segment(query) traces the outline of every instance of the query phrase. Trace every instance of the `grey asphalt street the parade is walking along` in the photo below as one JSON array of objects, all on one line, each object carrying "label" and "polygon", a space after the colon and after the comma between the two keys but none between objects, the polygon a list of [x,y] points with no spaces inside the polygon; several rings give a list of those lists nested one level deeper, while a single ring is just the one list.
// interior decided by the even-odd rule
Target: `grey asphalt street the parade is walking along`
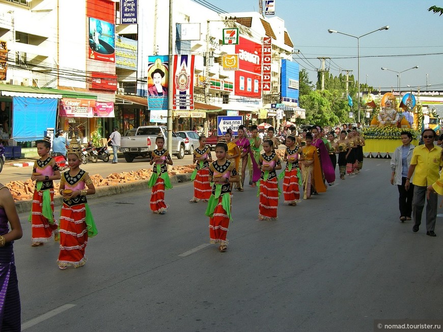
[{"label": "grey asphalt street the parade is walking along", "polygon": [[225,253],[209,245],[207,204],[188,203],[192,183],[167,191],[165,215],[151,213],[148,188],[92,198],[98,235],[77,269],[58,268],[58,243],[32,248],[21,214],[22,330],[373,331],[374,319],[439,319],[442,220],[437,237],[400,223],[390,175],[389,159],[365,159],[326,193],[297,206],[281,197],[278,221],[258,220],[246,180]]}]

